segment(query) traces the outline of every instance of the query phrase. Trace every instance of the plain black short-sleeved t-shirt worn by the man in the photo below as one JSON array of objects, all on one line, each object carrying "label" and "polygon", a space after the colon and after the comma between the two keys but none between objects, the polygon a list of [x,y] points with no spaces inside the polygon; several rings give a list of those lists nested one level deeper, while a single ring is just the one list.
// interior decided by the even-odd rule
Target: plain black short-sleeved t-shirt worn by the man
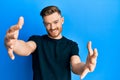
[{"label": "plain black short-sleeved t-shirt worn by the man", "polygon": [[79,52],[76,42],[47,35],[32,36],[30,40],[37,44],[32,53],[33,80],[71,80],[70,57]]}]

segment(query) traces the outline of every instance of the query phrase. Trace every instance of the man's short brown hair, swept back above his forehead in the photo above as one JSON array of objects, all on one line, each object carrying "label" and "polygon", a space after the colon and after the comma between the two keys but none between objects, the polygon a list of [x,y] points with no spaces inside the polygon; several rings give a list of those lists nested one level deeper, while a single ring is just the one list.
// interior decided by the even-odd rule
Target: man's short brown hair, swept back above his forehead
[{"label": "man's short brown hair, swept back above his forehead", "polygon": [[43,18],[44,16],[51,15],[51,14],[53,14],[55,12],[57,12],[57,13],[59,13],[61,15],[61,11],[57,6],[47,6],[47,7],[42,9],[42,11],[40,12],[40,15]]}]

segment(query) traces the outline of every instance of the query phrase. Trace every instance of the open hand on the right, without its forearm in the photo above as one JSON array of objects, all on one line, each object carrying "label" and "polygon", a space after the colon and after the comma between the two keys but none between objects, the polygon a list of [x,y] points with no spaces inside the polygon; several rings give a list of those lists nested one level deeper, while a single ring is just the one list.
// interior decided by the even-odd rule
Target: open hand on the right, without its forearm
[{"label": "open hand on the right, without its forearm", "polygon": [[85,69],[81,75],[81,79],[83,79],[88,72],[94,71],[97,63],[98,52],[96,48],[94,50],[92,49],[91,41],[88,42],[87,48],[88,48],[89,54],[87,56]]}]

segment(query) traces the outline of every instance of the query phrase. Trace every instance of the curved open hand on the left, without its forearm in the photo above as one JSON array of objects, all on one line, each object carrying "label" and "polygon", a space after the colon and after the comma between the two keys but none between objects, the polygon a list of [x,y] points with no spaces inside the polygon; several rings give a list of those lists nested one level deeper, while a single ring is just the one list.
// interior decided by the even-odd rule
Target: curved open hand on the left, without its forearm
[{"label": "curved open hand on the left, without its forearm", "polygon": [[7,31],[6,36],[5,36],[5,46],[8,50],[8,54],[12,60],[14,60],[14,55],[13,55],[13,48],[15,45],[15,42],[17,41],[18,35],[19,35],[19,30],[22,28],[24,24],[24,18],[20,17],[18,20],[18,23]]}]

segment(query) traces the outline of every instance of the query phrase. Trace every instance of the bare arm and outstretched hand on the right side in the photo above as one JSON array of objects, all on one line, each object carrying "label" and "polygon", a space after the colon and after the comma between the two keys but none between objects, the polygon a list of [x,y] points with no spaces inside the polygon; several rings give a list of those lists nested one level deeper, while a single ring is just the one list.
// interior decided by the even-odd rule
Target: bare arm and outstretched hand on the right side
[{"label": "bare arm and outstretched hand on the right side", "polygon": [[88,43],[88,52],[86,63],[81,62],[77,55],[71,57],[72,71],[79,74],[81,78],[84,78],[88,72],[94,71],[96,67],[98,52],[97,49],[92,50],[91,42]]}]

